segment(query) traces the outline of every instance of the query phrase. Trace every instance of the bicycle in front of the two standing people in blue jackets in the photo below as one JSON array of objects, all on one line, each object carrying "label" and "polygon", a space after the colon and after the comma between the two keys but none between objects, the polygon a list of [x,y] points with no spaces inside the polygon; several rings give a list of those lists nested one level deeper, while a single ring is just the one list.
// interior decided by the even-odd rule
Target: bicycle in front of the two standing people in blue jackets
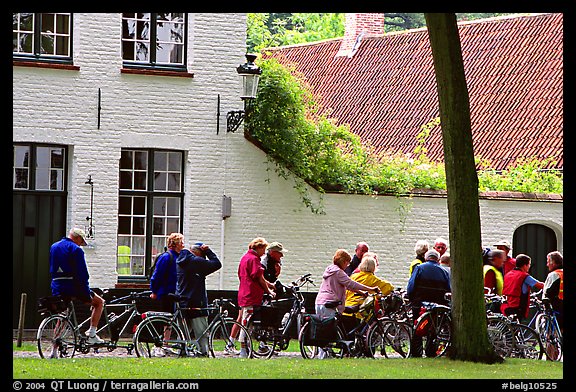
[{"label": "bicycle in front of the two standing people in blue jackets", "polygon": [[[218,298],[203,308],[180,307],[182,299],[176,294],[168,294],[175,302],[174,313],[144,312],[142,321],[134,333],[134,347],[138,357],[186,357],[205,356],[216,358],[221,356],[238,357],[237,342],[231,336],[232,328],[238,328],[240,334],[246,336],[248,356],[252,352],[252,341],[246,328],[231,317],[224,309],[225,305],[235,307],[232,300]],[[188,311],[207,311],[211,317],[208,327],[195,339],[186,322]],[[208,353],[203,353],[200,341],[208,339]]]}]

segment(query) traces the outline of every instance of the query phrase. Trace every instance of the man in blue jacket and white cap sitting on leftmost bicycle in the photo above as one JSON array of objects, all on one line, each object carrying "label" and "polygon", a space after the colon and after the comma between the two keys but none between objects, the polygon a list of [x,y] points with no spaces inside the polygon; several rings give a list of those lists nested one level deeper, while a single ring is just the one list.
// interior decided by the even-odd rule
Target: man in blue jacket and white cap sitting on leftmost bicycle
[{"label": "man in blue jacket and white cap sitting on leftmost bicycle", "polygon": [[86,331],[89,344],[104,343],[96,335],[96,328],[104,308],[104,299],[90,290],[88,267],[84,258],[86,246],[84,230],[74,227],[68,237],[62,238],[50,247],[50,276],[52,295],[60,295],[65,299],[77,299],[92,306],[90,328]]}]

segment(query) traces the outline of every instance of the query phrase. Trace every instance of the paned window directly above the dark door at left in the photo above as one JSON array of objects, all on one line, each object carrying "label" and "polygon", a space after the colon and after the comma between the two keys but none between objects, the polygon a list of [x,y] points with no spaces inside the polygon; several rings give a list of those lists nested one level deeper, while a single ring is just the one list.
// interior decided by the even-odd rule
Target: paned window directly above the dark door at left
[{"label": "paned window directly above the dark door at left", "polygon": [[62,146],[14,144],[12,189],[63,191],[66,149]]}]

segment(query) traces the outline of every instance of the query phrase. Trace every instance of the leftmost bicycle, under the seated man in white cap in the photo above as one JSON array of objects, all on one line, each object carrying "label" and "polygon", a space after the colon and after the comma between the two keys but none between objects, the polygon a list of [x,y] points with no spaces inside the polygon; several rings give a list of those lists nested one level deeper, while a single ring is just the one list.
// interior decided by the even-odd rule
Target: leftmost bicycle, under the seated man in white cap
[{"label": "leftmost bicycle, under the seated man in white cap", "polygon": [[[90,324],[90,317],[78,324],[74,300],[63,296],[47,296],[38,300],[38,312],[48,314],[38,327],[36,341],[41,358],[72,358],[79,351],[88,354],[90,349],[98,352],[103,348],[114,351],[124,348],[132,354],[132,343],[120,343],[120,337],[134,323],[138,322],[140,313],[136,308],[138,298],[147,297],[150,291],[132,292],[124,297],[104,303],[102,317],[104,325],[96,333],[105,332],[109,337],[104,343],[89,344],[88,338],[80,332]],[[126,301],[129,301],[128,303]],[[109,308],[124,307],[119,315],[108,313]]]}]

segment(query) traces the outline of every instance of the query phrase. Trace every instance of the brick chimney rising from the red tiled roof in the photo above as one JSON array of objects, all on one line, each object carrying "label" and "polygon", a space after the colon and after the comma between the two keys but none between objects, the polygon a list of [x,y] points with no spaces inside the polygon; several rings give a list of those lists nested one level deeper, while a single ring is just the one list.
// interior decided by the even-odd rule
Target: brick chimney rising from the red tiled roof
[{"label": "brick chimney rising from the red tiled roof", "polygon": [[384,14],[346,14],[344,37],[336,57],[352,57],[363,38],[382,35]]}]

